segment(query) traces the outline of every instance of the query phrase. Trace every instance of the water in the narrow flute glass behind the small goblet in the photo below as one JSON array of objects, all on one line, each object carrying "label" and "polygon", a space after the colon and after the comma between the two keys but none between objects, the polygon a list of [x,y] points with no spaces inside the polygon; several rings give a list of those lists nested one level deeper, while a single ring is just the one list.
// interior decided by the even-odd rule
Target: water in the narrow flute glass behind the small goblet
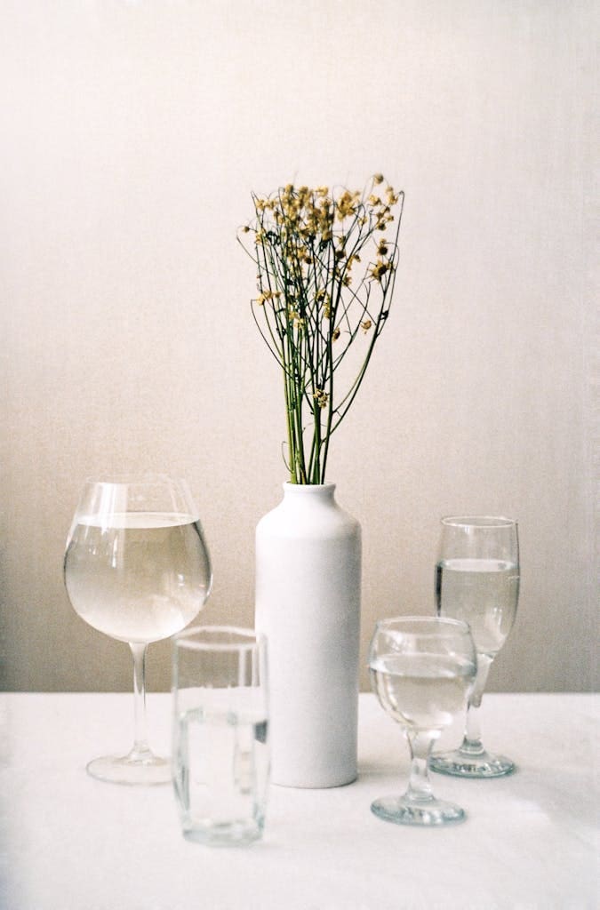
[{"label": "water in the narrow flute glass behind the small goblet", "polygon": [[439,615],[468,622],[477,652],[493,656],[513,628],[519,569],[501,560],[442,560],[435,595]]}]

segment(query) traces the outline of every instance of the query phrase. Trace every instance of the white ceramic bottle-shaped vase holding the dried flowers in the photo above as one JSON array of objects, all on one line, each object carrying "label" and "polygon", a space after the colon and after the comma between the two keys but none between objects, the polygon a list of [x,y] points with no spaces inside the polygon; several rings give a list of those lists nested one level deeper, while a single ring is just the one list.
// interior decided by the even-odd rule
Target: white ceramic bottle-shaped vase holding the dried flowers
[{"label": "white ceramic bottle-shaped vase holding the dried flowers", "polygon": [[271,780],[357,775],[361,526],[335,486],[285,483],[256,530],[256,627],[269,648]]}]

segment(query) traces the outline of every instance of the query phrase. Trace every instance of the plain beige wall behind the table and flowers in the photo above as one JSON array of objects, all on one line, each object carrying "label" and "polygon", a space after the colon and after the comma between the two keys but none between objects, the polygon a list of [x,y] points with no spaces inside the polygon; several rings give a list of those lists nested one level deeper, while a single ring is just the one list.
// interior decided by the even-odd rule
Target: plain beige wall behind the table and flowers
[{"label": "plain beige wall behind the table and flowers", "polygon": [[377,617],[432,612],[440,516],[503,512],[523,585],[490,688],[597,686],[599,8],[2,0],[5,688],[131,688],[62,581],[98,471],[186,477],[203,618],[253,622],[285,430],[236,230],[251,190],[375,171],[406,192],[402,259],[329,469],[363,529],[363,663]]}]

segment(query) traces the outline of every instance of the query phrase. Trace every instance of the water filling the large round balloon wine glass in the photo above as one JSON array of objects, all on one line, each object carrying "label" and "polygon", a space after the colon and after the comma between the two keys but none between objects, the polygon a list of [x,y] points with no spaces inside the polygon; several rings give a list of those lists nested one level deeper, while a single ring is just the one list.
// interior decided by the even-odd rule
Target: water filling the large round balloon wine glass
[{"label": "water filling the large round balloon wine glass", "polygon": [[157,642],[194,619],[210,571],[191,515],[124,512],[79,519],[65,557],[76,612],[122,642]]}]

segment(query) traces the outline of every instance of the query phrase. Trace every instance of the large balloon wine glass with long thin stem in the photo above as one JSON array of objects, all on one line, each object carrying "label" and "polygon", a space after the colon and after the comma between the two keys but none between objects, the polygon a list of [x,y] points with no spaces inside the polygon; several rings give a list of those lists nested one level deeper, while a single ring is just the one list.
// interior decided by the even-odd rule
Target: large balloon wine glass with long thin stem
[{"label": "large balloon wine glass with long thin stem", "polygon": [[75,611],[99,632],[127,642],[134,662],[133,747],[124,756],[95,759],[87,771],[115,784],[168,783],[168,759],[147,743],[147,645],[188,625],[212,582],[186,483],[162,474],[87,480],[66,541],[64,571]]}]

